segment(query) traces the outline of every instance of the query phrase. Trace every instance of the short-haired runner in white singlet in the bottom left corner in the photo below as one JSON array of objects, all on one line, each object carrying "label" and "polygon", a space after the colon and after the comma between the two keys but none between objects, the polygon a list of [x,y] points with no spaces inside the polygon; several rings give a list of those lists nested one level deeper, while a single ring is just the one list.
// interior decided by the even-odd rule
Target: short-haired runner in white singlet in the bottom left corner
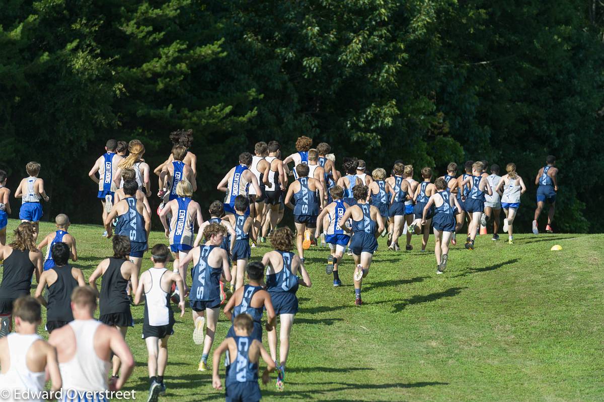
[{"label": "short-haired runner in white singlet in the bottom left corner", "polygon": [[[19,297],[14,302],[13,313],[17,332],[0,339],[0,400],[42,401],[46,369],[53,383],[51,391],[59,391],[61,387],[57,354],[36,334],[41,319],[40,304],[36,299]],[[28,398],[25,392],[30,392]]]}]

